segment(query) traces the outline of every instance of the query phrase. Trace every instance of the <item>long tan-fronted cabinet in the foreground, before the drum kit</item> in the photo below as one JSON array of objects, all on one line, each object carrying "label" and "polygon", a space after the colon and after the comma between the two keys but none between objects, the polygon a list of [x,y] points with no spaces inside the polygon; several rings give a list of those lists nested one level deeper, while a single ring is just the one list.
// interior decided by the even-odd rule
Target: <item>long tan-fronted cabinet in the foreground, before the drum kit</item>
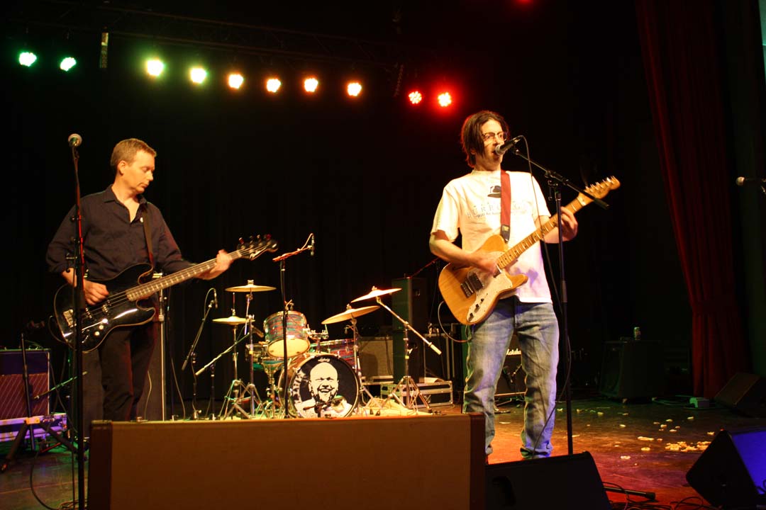
[{"label": "long tan-fronted cabinet in the foreground, before the drum kit", "polygon": [[97,421],[90,444],[94,510],[485,508],[475,413]]}]

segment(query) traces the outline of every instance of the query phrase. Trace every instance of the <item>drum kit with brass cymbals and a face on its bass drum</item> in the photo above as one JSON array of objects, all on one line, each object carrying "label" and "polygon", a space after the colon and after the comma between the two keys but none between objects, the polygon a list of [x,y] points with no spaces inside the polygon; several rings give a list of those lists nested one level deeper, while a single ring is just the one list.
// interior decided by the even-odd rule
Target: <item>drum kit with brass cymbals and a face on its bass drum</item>
[{"label": "drum kit with brass cymbals and a face on its bass drum", "polygon": [[[274,290],[275,287],[257,285],[253,281],[226,289],[232,293],[231,316],[214,319],[213,322],[232,328],[233,343],[195,373],[199,375],[213,366],[221,356],[232,353],[234,380],[224,397],[220,413],[217,416],[214,414],[213,419],[233,418],[235,415],[243,419],[254,419],[370,414],[370,406],[375,399],[362,385],[364,378],[358,356],[359,335],[356,320],[385,307],[380,298],[401,289],[372,287],[370,294],[358,297],[352,300],[352,303],[375,298],[378,301],[377,305],[353,308],[348,304],[341,313],[322,320],[322,325],[325,326],[323,332],[311,330],[306,316],[293,310],[291,303],[286,306],[286,310],[268,316],[264,320],[264,330],[261,331],[254,326],[250,302],[254,293]],[[237,293],[247,294],[244,317],[238,317],[236,314],[234,296]],[[328,339],[326,325],[345,321],[351,323],[353,338]],[[241,333],[237,335],[241,326]],[[254,336],[258,336],[259,339],[255,339]],[[250,378],[247,382],[239,378],[237,372],[237,345],[244,341],[247,341],[245,347],[250,368]],[[267,376],[265,395],[261,395],[263,387],[261,391],[256,387],[256,369],[263,370]],[[417,389],[417,385],[414,386]],[[409,391],[409,387],[406,389]],[[389,398],[396,397],[389,395]],[[403,404],[401,399],[397,400]],[[427,407],[427,402],[424,403]],[[376,414],[380,414],[380,408]]]}]

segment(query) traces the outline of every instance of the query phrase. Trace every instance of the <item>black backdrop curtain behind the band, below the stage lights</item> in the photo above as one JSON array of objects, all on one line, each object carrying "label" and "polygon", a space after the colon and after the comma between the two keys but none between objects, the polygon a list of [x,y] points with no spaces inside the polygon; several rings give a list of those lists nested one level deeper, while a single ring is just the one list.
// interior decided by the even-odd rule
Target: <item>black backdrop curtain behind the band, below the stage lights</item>
[{"label": "black backdrop curtain behind the band, below the stage lights", "polygon": [[[414,274],[434,259],[427,238],[441,189],[467,171],[460,124],[486,108],[502,112],[514,134],[527,137],[535,161],[576,184],[611,175],[622,183],[605,199],[609,210],[591,205],[578,213],[580,235],[565,244],[575,387],[594,385],[604,342],[629,335],[633,326],[660,340],[676,358],[673,363],[685,365],[689,305],[656,163],[633,6],[539,2],[537,11],[506,7],[489,16],[486,2],[476,3],[461,6],[462,15],[430,22],[420,11],[405,17],[423,24],[406,26],[410,38],[403,41],[433,47],[437,55],[421,63],[421,81],[444,79],[459,87],[449,112],[408,108],[401,96],[394,97],[395,76],[382,70],[371,74],[377,81],[358,104],[296,93],[270,100],[254,84],[232,94],[215,86],[192,89],[172,77],[146,80],[136,64],[139,44],[119,37],[110,43],[108,69],[98,70],[97,34],[70,37],[73,44],[93,47],[90,61],[83,60],[74,74],[22,69],[13,62],[18,36],[7,37],[3,87],[10,179],[3,231],[9,278],[0,344],[18,346],[25,324],[46,320],[62,283],[47,274],[44,253],[74,202],[66,145],[71,132],[83,137],[83,194],[111,183],[108,161],[116,141],[142,138],[158,151],[146,197],[161,208],[191,261],[234,249],[239,237],[266,233],[280,243],[277,253],[293,251],[314,232],[316,255],[286,261],[286,297],[319,330],[322,320],[373,285],[389,287],[393,278]],[[310,29],[322,32],[329,25]],[[485,34],[477,32],[482,29]],[[191,51],[169,47],[164,54],[172,60]],[[521,165],[506,160],[506,167]],[[539,171],[533,173],[542,180]],[[563,203],[575,197],[570,190],[562,195]],[[549,253],[550,281],[558,283],[555,245]],[[233,294],[225,287],[247,280],[280,286],[272,256],[236,261],[217,280],[172,290],[169,339],[178,368],[197,332],[208,288],[215,287],[221,300],[213,317],[227,316]],[[433,323],[440,267],[430,265],[419,274],[427,278]],[[660,295],[663,306],[657,307]],[[244,294],[234,297],[243,315]],[[259,293],[251,312],[262,321],[281,307],[279,291]],[[378,310],[359,323],[375,334],[390,326],[391,317]],[[343,323],[330,325],[329,333],[348,336]],[[37,330],[28,338],[53,348],[56,370],[62,370],[64,349],[50,335]],[[208,323],[199,362],[230,344],[228,327]],[[218,399],[231,380],[231,368],[219,367]],[[188,397],[188,373],[181,384]]]}]

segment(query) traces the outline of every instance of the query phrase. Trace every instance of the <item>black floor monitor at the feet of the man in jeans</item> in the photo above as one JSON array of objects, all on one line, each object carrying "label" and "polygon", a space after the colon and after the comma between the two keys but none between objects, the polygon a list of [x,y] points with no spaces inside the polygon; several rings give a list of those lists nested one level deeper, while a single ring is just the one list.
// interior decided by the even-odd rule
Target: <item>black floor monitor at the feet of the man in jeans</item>
[{"label": "black floor monitor at the feet of the man in jeans", "polygon": [[611,510],[590,453],[486,466],[487,510]]}]

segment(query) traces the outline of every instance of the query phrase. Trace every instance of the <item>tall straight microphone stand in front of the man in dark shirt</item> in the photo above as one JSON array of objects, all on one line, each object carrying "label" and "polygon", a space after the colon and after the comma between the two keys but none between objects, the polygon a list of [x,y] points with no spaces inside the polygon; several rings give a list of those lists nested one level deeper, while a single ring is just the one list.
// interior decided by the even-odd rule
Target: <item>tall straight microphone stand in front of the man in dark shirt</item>
[{"label": "tall straight microphone stand in front of the man in dark shirt", "polygon": [[77,255],[74,258],[74,377],[75,379],[75,430],[77,433],[77,508],[86,508],[85,504],[85,445],[83,438],[84,424],[84,405],[83,405],[83,309],[85,307],[85,252],[83,249],[83,216],[80,208],[80,154],[77,153],[77,146],[71,145],[72,161],[74,163],[74,221],[77,223],[77,236],[74,238],[75,251]]}]

